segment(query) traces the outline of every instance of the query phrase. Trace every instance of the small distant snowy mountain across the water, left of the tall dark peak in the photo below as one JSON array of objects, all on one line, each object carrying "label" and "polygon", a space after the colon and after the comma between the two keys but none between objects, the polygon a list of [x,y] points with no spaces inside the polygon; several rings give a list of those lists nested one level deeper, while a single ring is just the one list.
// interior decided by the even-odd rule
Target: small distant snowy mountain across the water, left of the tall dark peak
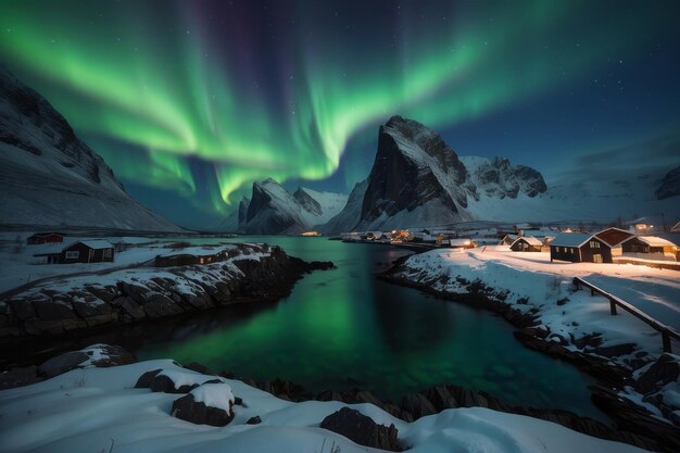
[{"label": "small distant snowy mountain across the water, left of the tall dark peak", "polygon": [[327,223],[347,204],[341,193],[299,187],[290,193],[272,178],[253,183],[252,197],[238,210],[238,231],[250,235],[297,235]]}]

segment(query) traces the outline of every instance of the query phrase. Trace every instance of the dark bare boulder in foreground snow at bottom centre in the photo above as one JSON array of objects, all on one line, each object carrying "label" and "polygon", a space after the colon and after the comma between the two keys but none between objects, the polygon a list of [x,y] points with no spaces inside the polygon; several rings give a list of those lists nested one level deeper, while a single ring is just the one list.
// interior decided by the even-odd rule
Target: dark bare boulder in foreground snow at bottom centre
[{"label": "dark bare boulder in foreground snow at bottom centre", "polygon": [[370,417],[349,407],[342,407],[324,418],[320,427],[344,436],[360,445],[391,452],[402,451],[394,425],[378,425]]}]

